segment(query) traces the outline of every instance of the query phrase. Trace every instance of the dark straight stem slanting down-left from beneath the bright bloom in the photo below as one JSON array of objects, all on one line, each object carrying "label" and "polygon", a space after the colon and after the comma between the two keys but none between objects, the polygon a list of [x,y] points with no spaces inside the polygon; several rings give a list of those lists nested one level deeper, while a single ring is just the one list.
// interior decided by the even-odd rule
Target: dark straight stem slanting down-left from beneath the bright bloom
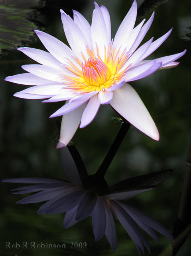
[{"label": "dark straight stem slanting down-left from beneath the bright bloom", "polygon": [[108,167],[110,166],[110,163],[112,162],[118,148],[120,147],[123,139],[126,136],[126,133],[128,132],[130,128],[130,123],[128,122],[124,122],[113,142],[113,144],[111,145],[108,153],[106,154],[106,157],[104,158],[102,164],[100,165],[99,169],[96,172],[96,176],[99,176],[100,178],[104,178],[106,171],[108,169]]}]

